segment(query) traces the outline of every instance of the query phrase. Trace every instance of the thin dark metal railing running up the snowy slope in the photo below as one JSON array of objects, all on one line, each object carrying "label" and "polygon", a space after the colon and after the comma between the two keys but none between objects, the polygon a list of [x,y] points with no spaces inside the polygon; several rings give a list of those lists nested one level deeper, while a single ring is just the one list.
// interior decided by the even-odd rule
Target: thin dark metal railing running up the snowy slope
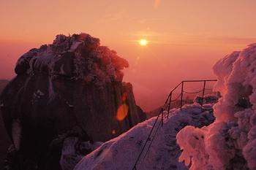
[{"label": "thin dark metal railing running up the snowy slope", "polygon": [[[154,141],[154,139],[155,139],[155,137],[157,135],[157,131],[158,131],[160,125],[162,125],[162,126],[164,125],[164,110],[167,111],[167,119],[168,119],[169,118],[170,109],[178,108],[178,107],[180,109],[182,109],[182,106],[184,105],[184,103],[192,104],[193,101],[185,101],[184,100],[184,93],[189,93],[189,94],[202,93],[202,99],[201,99],[201,103],[200,104],[201,104],[201,106],[203,106],[203,98],[205,97],[206,90],[212,90],[211,88],[206,88],[207,82],[216,82],[216,81],[217,80],[185,80],[185,81],[180,82],[175,88],[173,88],[173,90],[170,91],[169,95],[167,96],[167,99],[165,100],[165,104],[159,110],[159,114],[157,115],[157,118],[154,121],[154,125],[152,126],[151,131],[148,134],[146,142],[143,144],[143,148],[140,151],[140,154],[138,155],[138,158],[137,158],[137,160],[135,162],[135,165],[132,167],[132,170],[138,170],[139,169],[140,164],[143,163],[144,159],[146,158],[148,150],[150,149],[151,144],[153,143],[153,141]],[[199,90],[199,91],[195,91],[195,92],[188,92],[188,91],[184,90],[184,83],[186,83],[186,82],[203,82],[203,89]],[[180,86],[181,86],[180,93],[178,94],[178,96],[176,96],[175,99],[173,99],[172,98],[173,97],[173,93]],[[180,98],[180,101],[178,101],[178,98]],[[173,104],[174,102],[176,102],[176,103]],[[173,106],[171,104],[173,104]],[[157,121],[159,120],[160,115],[161,115],[161,121],[157,125]],[[155,131],[154,131],[154,129],[155,129]],[[145,150],[146,150],[146,152],[145,152]],[[144,156],[143,156],[143,153],[144,153]],[[140,158],[142,158],[142,156],[143,156],[143,160],[140,161]]]}]

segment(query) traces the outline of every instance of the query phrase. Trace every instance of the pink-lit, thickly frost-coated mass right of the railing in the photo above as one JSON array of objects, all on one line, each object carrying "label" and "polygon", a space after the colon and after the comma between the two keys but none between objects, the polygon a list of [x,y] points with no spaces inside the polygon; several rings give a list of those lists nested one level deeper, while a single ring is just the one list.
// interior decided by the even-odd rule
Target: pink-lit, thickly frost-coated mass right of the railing
[{"label": "pink-lit, thickly frost-coated mass right of the railing", "polygon": [[192,158],[191,169],[255,170],[256,44],[218,61],[214,73],[215,90],[222,95],[214,106],[216,120],[206,128],[188,126],[178,133],[184,150],[180,161],[189,164]]}]

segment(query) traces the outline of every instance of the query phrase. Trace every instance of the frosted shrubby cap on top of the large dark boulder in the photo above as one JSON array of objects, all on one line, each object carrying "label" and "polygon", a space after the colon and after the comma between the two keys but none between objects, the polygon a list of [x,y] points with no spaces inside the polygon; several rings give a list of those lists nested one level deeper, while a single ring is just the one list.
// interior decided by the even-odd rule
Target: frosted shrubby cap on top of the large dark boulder
[{"label": "frosted shrubby cap on top of the large dark boulder", "polygon": [[94,82],[102,87],[112,80],[121,81],[121,69],[129,64],[115,51],[100,46],[89,34],[58,35],[51,45],[42,45],[24,54],[16,64],[17,74],[45,72],[52,77],[66,76]]}]

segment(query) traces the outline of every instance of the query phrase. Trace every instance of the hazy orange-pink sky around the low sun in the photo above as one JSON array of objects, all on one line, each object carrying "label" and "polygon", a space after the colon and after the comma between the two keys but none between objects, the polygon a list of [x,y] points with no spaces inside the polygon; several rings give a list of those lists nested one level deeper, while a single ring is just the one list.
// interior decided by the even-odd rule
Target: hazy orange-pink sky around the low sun
[{"label": "hazy orange-pink sky around the low sun", "polygon": [[[138,104],[157,107],[185,79],[214,78],[213,64],[256,42],[256,1],[1,1],[0,79],[56,34],[86,32],[129,61]],[[136,40],[148,39],[146,47]]]}]

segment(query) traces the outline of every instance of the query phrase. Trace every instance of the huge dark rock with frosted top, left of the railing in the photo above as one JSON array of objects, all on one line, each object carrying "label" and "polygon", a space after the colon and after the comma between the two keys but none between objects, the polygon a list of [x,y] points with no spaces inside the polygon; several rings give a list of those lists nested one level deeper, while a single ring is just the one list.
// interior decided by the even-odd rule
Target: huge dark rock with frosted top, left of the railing
[{"label": "huge dark rock with frosted top, left of the railing", "polygon": [[105,142],[145,120],[132,85],[122,82],[127,66],[89,34],[58,35],[52,45],[22,55],[1,94],[11,169],[61,169],[70,136]]}]

